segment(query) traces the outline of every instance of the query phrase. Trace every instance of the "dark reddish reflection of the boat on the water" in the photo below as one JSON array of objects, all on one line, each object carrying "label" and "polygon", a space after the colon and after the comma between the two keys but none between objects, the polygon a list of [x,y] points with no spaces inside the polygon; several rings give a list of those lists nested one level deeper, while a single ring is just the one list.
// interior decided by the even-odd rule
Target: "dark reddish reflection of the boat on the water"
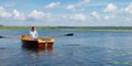
[{"label": "dark reddish reflection of the boat on the water", "polygon": [[34,48],[34,47],[28,47],[24,44],[22,45],[22,50],[31,53],[37,53],[38,55],[43,55],[44,53],[48,53],[50,55],[53,55],[54,53],[53,47]]}]

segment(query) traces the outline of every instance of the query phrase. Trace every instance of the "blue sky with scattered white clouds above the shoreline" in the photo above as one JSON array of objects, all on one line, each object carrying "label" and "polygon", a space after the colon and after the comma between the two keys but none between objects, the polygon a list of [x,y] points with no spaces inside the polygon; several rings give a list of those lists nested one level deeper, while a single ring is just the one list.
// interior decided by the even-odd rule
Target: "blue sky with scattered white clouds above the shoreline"
[{"label": "blue sky with scattered white clouds above the shoreline", "polygon": [[132,26],[132,0],[0,0],[0,25]]}]

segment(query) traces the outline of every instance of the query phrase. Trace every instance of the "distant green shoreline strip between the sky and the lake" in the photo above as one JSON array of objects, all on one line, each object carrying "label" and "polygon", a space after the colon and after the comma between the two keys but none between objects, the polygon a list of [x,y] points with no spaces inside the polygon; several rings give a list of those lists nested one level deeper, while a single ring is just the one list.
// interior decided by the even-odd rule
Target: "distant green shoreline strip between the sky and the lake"
[{"label": "distant green shoreline strip between the sky and the lake", "polygon": [[[36,26],[50,31],[132,31],[132,26]],[[0,30],[30,30],[31,26],[0,26]]]}]

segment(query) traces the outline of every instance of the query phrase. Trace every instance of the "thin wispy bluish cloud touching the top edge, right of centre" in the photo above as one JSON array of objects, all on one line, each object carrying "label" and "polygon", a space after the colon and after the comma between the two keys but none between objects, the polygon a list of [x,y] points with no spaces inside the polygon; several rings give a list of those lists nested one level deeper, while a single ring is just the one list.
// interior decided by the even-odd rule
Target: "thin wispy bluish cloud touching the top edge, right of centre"
[{"label": "thin wispy bluish cloud touching the top edge, right of centre", "polygon": [[79,0],[79,2],[76,4],[68,4],[66,9],[72,11],[78,11],[78,10],[84,11],[85,9],[78,9],[78,8],[86,7],[89,2],[90,0]]}]

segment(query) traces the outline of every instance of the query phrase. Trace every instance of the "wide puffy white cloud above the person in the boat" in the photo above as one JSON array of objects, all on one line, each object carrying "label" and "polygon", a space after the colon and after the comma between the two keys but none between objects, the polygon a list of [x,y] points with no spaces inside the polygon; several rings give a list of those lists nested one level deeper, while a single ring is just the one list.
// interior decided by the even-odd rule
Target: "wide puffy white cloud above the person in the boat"
[{"label": "wide puffy white cloud above the person in the boat", "polygon": [[35,20],[43,20],[45,18],[50,19],[51,16],[52,16],[51,13],[44,13],[44,12],[41,12],[41,11],[37,11],[37,10],[34,10],[29,14],[29,18],[32,18],[32,19],[35,19]]}]

